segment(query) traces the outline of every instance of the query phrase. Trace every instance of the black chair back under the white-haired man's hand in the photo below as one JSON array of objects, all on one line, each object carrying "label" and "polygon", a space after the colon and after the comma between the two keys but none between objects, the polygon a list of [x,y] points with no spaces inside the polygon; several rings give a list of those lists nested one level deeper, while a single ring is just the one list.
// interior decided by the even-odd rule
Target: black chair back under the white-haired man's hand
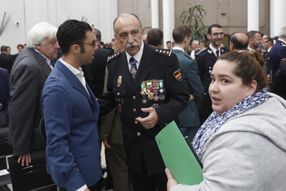
[{"label": "black chair back under the white-haired man's hand", "polygon": [[51,175],[47,173],[46,151],[31,152],[29,166],[18,164],[18,157],[8,157],[13,190],[37,190],[55,185]]}]

